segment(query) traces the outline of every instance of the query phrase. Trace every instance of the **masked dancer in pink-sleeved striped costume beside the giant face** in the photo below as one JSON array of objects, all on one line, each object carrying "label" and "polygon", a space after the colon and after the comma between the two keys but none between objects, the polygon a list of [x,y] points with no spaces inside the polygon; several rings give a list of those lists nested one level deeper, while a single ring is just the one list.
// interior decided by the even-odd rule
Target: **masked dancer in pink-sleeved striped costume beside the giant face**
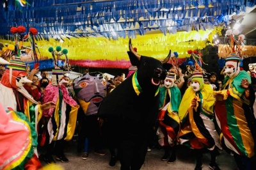
[{"label": "masked dancer in pink-sleeved striped costume beside the giant face", "polygon": [[62,77],[63,70],[56,66],[52,70],[52,83],[44,91],[43,103],[52,101],[56,104],[56,107],[46,109],[43,112],[42,128],[47,129],[49,134],[49,141],[45,141],[47,153],[44,159],[47,164],[55,164],[55,160],[52,158],[53,149],[56,151],[56,160],[63,163],[68,162],[68,158],[63,153],[63,148],[65,141],[72,139],[76,128],[79,105],[68,95],[68,91],[63,84],[67,81],[61,79]]}]

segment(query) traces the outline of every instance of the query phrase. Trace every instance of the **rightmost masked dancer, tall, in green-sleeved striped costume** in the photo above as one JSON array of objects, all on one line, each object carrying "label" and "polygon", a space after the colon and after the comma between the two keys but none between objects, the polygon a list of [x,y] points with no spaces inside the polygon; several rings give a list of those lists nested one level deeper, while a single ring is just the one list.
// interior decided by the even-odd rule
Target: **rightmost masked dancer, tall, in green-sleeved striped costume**
[{"label": "rightmost masked dancer, tall, in green-sleeved striped costume", "polygon": [[240,71],[239,65],[236,54],[226,58],[223,88],[214,91],[215,114],[223,134],[223,148],[234,155],[239,169],[253,169],[250,158],[255,155],[256,121],[252,108],[255,95],[250,75]]}]

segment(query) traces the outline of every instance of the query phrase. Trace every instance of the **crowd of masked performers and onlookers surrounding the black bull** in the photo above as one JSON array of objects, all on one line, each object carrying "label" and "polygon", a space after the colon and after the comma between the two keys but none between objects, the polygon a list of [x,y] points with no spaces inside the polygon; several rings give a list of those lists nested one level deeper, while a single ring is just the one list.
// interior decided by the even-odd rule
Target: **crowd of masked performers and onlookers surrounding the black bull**
[{"label": "crowd of masked performers and onlookers surrounding the black bull", "polygon": [[[55,164],[56,160],[68,162],[63,148],[74,134],[78,134],[77,151],[83,159],[88,158],[89,146],[99,155],[106,154],[102,151],[102,134],[110,139],[116,134],[106,130],[111,122],[98,118],[97,110],[104,97],[127,77],[116,75],[108,80],[102,73],[88,72],[70,86],[69,77],[58,67],[52,70],[50,81],[47,71],[34,68],[28,72],[19,58],[1,62],[4,65],[0,72],[0,169],[42,168],[39,146],[44,148],[42,154],[47,164]],[[159,112],[154,127],[157,142],[164,150],[161,160],[175,162],[177,144],[182,144],[195,150],[195,169],[202,169],[205,148],[211,154],[211,169],[220,169],[216,157],[222,149],[234,155],[237,169],[253,169],[254,75],[240,70],[239,62],[236,55],[226,58],[223,80],[218,80],[216,73],[193,70],[184,75],[180,68],[168,68],[159,89]],[[36,75],[39,71],[40,80]],[[132,76],[136,67],[129,71]],[[111,155],[109,165],[115,166],[117,144],[106,141]]]}]

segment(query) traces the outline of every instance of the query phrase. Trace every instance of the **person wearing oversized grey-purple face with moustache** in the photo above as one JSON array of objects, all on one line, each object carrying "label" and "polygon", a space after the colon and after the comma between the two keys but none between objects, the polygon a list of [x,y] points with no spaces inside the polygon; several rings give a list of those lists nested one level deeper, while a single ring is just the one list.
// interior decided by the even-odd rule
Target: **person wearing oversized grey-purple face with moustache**
[{"label": "person wearing oversized grey-purple face with moustache", "polygon": [[90,142],[94,145],[94,153],[106,155],[102,151],[101,120],[97,116],[99,105],[106,96],[106,79],[100,72],[84,73],[74,80],[73,85],[81,105],[77,116],[81,129],[78,134],[77,151],[81,152],[83,149],[82,158],[86,160]]}]

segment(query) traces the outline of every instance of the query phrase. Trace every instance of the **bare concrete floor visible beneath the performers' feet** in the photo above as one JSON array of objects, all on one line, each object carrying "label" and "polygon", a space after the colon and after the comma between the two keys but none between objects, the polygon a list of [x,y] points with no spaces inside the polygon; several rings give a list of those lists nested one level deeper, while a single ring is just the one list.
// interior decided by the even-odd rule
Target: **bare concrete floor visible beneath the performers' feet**
[{"label": "bare concrete floor visible beneath the performers' feet", "polygon": [[[79,169],[92,169],[92,170],[115,170],[120,169],[120,162],[116,163],[116,166],[109,166],[109,158],[110,154],[108,149],[104,149],[106,151],[106,155],[100,156],[93,151],[89,153],[89,157],[86,160],[81,158],[81,155],[77,154],[76,151],[77,143],[75,141],[70,141],[65,148],[65,155],[69,159],[68,163],[62,163],[56,160],[57,164],[64,167],[68,170],[79,170]],[[42,152],[42,151],[41,151]],[[159,150],[158,148],[152,149],[152,151],[147,153],[145,158],[145,163],[141,167],[141,170],[146,169],[156,169],[156,170],[165,170],[165,169],[182,169],[182,170],[193,170],[195,168],[195,155],[193,151],[188,150],[184,146],[178,146],[177,149],[177,160],[173,164],[167,164],[167,161],[162,161],[161,157],[163,156],[164,151]],[[42,157],[40,157],[42,160]],[[209,169],[208,165],[210,162],[210,154],[204,153],[203,161],[203,169]],[[236,162],[234,162],[234,158],[231,155],[228,155],[224,150],[220,151],[220,155],[216,158],[216,162],[218,163],[220,169],[222,170],[234,170],[236,169]],[[42,160],[42,164],[45,166],[44,160]]]}]

